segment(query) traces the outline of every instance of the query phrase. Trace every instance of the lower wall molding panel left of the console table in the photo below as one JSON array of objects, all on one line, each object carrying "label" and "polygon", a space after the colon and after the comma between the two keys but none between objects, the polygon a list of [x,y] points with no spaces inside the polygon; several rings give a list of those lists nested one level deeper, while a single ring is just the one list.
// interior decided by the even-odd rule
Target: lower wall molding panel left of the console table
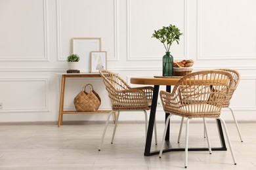
[{"label": "lower wall molding panel left of the console table", "polygon": [[[0,101],[3,103],[3,110],[0,110],[0,114],[3,112],[50,112],[49,78],[0,77],[0,82],[1,91],[3,90],[1,93],[9,95],[8,99],[0,97]],[[7,87],[12,88],[10,92],[6,92]],[[33,103],[33,101],[35,102]],[[7,107],[5,107],[6,105]]]}]

